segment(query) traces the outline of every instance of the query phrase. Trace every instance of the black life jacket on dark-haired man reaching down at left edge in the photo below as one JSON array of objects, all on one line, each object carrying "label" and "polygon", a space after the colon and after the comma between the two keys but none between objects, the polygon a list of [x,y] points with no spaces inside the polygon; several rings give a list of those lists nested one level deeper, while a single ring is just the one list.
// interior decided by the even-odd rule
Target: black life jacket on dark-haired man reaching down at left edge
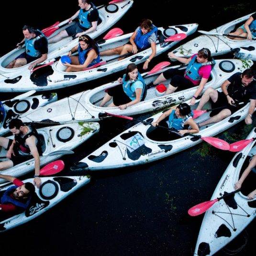
[{"label": "black life jacket on dark-haired man reaching down at left edge", "polygon": [[38,154],[40,156],[42,156],[42,147],[41,147],[41,140],[39,137],[39,134],[37,133],[36,129],[33,127],[33,125],[27,125],[28,127],[30,127],[30,132],[28,132],[27,134],[25,134],[22,137],[22,134],[16,134],[14,136],[14,140],[15,140],[15,148],[18,149],[18,151],[22,151],[23,153],[26,154],[30,154],[30,149],[29,146],[26,145],[26,139],[32,135],[34,135],[37,138],[37,143],[36,143],[36,147],[38,150]]}]

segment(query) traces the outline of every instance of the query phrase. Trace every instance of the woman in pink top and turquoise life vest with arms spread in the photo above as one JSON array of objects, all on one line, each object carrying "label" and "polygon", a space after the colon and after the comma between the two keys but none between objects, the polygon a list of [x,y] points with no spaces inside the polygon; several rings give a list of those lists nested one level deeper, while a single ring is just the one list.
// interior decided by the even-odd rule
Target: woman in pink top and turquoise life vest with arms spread
[{"label": "woman in pink top and turquoise life vest with arms spread", "polygon": [[173,93],[177,89],[184,90],[198,86],[198,89],[190,101],[190,105],[194,105],[195,100],[200,95],[204,85],[207,83],[208,78],[211,75],[211,68],[215,63],[211,57],[210,50],[207,48],[202,48],[200,51],[198,51],[198,54],[194,54],[189,59],[177,57],[173,52],[168,53],[168,57],[177,59],[179,62],[187,64],[188,66],[185,73],[184,69],[179,70],[170,68],[156,78],[153,84],[157,85],[163,81],[171,79],[166,90],[166,94]]}]

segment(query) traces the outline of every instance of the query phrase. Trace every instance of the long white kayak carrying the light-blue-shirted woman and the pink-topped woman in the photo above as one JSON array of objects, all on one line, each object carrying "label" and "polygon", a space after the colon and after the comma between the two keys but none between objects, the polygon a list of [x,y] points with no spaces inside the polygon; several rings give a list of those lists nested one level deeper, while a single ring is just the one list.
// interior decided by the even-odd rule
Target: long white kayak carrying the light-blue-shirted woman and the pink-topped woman
[{"label": "long white kayak carrying the light-blue-shirted woman and the pink-topped woman", "polygon": [[[219,88],[222,83],[236,72],[243,72],[243,70],[253,65],[253,62],[248,60],[216,60],[216,64],[211,71],[211,79],[205,85],[205,89],[211,87]],[[155,74],[145,77],[145,83],[152,85],[161,72],[169,68],[178,68],[180,66],[168,67]],[[186,67],[182,67],[185,69]],[[145,76],[147,73],[142,74]],[[165,82],[167,86],[170,80]],[[106,112],[111,112],[117,115],[135,115],[148,111],[156,111],[161,108],[170,106],[171,104],[178,104],[182,101],[189,100],[195,93],[198,87],[178,91],[171,95],[156,96],[156,88],[147,89],[146,98],[125,110],[120,110],[118,107],[100,107],[100,102],[104,97],[105,90],[119,85],[118,81],[102,85],[92,90],[79,92],[75,95],[69,96],[62,100],[58,100],[50,105],[40,108],[33,113],[23,114],[20,118],[24,122],[79,122],[79,121],[99,121],[105,117]],[[203,91],[204,91],[203,90]],[[108,102],[107,104],[110,104]],[[106,105],[107,105],[106,104]]]}]

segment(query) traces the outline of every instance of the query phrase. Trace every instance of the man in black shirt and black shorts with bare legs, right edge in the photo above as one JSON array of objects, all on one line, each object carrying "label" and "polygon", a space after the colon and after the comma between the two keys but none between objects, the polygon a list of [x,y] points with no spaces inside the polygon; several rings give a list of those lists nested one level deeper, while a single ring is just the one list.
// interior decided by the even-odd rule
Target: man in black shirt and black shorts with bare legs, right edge
[{"label": "man in black shirt and black shorts with bare legs, right edge", "polygon": [[211,108],[219,108],[211,111],[211,118],[199,123],[199,127],[219,122],[230,116],[250,100],[250,106],[245,118],[246,124],[252,123],[252,114],[256,106],[256,81],[254,71],[251,68],[245,69],[243,73],[237,72],[222,84],[222,92],[208,88],[200,99],[197,110],[201,110],[207,101],[211,100]]}]

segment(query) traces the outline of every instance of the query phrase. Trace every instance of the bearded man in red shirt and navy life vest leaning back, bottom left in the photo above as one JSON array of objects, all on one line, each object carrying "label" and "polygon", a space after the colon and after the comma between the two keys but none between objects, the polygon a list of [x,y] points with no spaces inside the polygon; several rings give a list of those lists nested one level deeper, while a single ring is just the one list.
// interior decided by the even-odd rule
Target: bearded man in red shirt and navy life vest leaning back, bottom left
[{"label": "bearded man in red shirt and navy life vest leaning back, bottom left", "polygon": [[0,174],[0,178],[14,184],[0,198],[0,213],[25,211],[34,194],[34,185],[30,182],[23,183],[18,178],[9,175]]}]

